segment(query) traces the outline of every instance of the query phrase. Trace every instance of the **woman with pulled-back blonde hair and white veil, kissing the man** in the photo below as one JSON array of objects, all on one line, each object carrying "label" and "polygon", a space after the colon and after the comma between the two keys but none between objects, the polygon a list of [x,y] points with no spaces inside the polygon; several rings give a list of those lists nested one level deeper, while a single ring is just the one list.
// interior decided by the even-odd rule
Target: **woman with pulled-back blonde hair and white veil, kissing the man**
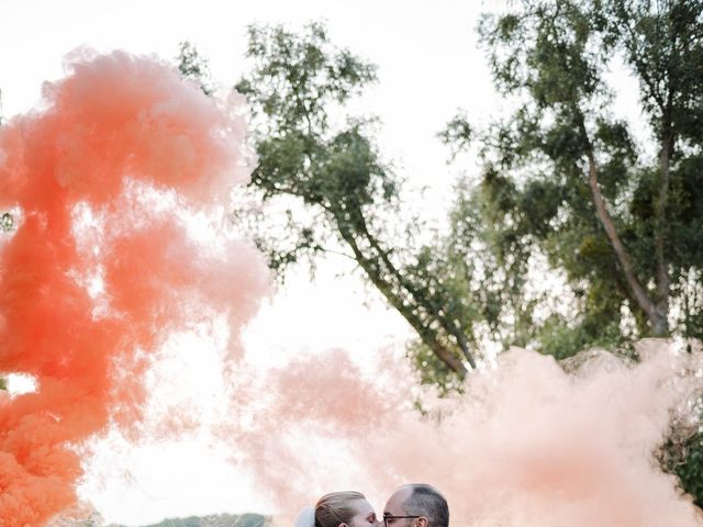
[{"label": "woman with pulled-back blonde hair and white veil, kissing the man", "polygon": [[360,492],[332,492],[325,494],[314,507],[305,507],[295,519],[294,527],[380,527],[373,507]]}]

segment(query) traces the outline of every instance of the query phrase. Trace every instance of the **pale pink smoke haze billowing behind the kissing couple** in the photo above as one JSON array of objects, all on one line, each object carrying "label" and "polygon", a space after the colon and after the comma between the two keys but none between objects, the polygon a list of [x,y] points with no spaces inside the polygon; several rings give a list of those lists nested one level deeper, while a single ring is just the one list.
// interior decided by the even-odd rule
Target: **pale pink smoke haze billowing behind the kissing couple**
[{"label": "pale pink smoke haze billowing behind the kissing couple", "polygon": [[654,458],[700,396],[701,357],[649,347],[638,366],[602,352],[576,373],[511,350],[470,377],[440,424],[403,405],[413,381],[402,368],[369,382],[339,352],[295,361],[269,379],[280,399],[252,449],[266,458],[263,489],[289,514],[335,489],[365,491],[382,512],[395,486],[429,482],[458,526],[702,526]]}]

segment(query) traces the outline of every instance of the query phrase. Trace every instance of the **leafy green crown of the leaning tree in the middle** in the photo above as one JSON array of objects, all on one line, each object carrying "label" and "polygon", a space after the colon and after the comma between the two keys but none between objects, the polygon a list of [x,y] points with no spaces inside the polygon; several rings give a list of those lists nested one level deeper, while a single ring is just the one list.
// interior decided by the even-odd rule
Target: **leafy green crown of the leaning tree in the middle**
[{"label": "leafy green crown of the leaning tree in the middle", "polygon": [[339,110],[376,80],[373,66],[331,46],[316,23],[302,35],[282,26],[250,26],[247,56],[254,67],[236,89],[247,97],[257,123],[259,164],[252,186],[264,201],[288,195],[308,205],[304,213],[288,210],[284,235],[294,242],[287,250],[268,233],[256,233],[282,277],[290,265],[324,250],[336,220],[358,222],[362,208],[390,203],[393,183],[366,135],[369,122],[330,123],[333,108]]}]

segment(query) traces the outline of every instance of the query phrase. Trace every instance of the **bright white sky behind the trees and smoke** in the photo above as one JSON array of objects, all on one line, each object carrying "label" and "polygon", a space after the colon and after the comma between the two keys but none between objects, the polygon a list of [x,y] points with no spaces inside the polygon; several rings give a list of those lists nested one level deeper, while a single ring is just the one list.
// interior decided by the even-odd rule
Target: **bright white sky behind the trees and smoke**
[{"label": "bright white sky behind the trees and smoke", "polygon": [[[247,24],[300,26],[326,20],[333,43],[379,66],[380,82],[357,108],[381,117],[384,155],[412,186],[428,187],[417,206],[435,215],[456,176],[456,169],[445,164],[448,150],[435,134],[460,106],[475,121],[499,110],[473,31],[478,14],[490,4],[480,0],[3,0],[2,113],[10,117],[36,104],[42,82],[60,77],[63,55],[80,45],[170,59],[178,43],[188,40],[209,58],[213,79],[232,86],[245,68]],[[293,277],[287,290],[263,309],[247,334],[247,354],[254,362],[266,365],[331,347],[349,349],[364,362],[381,347],[402,347],[408,330],[399,316],[378,299],[365,305],[368,295],[360,282],[337,278],[336,266],[323,266],[316,283],[310,283],[305,272]],[[196,367],[190,368],[196,389],[202,382],[192,373]],[[112,446],[118,444],[129,456],[115,458],[110,448],[99,449],[82,487],[85,497],[109,522],[145,524],[164,516],[265,512],[268,506],[250,494],[245,473],[197,440],[136,448],[113,438]]]}]

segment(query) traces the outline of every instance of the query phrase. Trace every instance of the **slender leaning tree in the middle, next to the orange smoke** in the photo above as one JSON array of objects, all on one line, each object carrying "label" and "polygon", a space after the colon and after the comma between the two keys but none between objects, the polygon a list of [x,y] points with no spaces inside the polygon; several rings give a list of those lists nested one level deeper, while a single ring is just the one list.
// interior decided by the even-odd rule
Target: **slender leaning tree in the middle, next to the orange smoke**
[{"label": "slender leaning tree in the middle, next to the orange smoke", "polygon": [[453,291],[461,277],[453,282],[438,272],[454,272],[460,262],[436,258],[428,246],[389,242],[399,225],[399,178],[380,158],[372,121],[335,122],[376,80],[375,66],[334,48],[315,23],[301,35],[250,26],[247,56],[254,67],[236,88],[254,113],[259,164],[252,187],[265,202],[292,200],[287,240],[271,239],[270,231],[258,236],[271,267],[284,272],[305,257],[345,251],[416,332],[427,351],[422,360],[434,360],[443,379],[464,375],[467,365],[476,366],[465,326],[472,306]]}]

